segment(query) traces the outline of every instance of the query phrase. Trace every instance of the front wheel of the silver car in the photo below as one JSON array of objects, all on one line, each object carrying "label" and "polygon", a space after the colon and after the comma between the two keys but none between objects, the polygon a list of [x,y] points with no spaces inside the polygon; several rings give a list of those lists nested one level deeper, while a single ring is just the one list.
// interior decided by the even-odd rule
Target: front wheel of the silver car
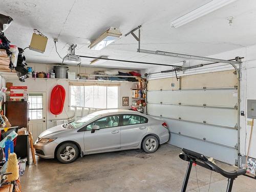
[{"label": "front wheel of the silver car", "polygon": [[78,154],[78,147],[74,143],[63,143],[58,147],[56,158],[61,163],[72,163],[77,159]]}]

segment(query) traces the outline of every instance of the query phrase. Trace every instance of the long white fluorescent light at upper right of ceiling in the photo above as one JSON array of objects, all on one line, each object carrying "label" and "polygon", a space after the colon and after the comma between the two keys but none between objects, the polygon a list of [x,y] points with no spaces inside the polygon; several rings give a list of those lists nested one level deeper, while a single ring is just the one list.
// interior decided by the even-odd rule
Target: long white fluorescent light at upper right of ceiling
[{"label": "long white fluorescent light at upper right of ceiling", "polygon": [[172,26],[172,28],[181,27],[199,17],[209,14],[235,1],[237,0],[212,0],[209,3],[204,4],[203,6],[173,20],[172,22],[170,22],[170,25]]}]

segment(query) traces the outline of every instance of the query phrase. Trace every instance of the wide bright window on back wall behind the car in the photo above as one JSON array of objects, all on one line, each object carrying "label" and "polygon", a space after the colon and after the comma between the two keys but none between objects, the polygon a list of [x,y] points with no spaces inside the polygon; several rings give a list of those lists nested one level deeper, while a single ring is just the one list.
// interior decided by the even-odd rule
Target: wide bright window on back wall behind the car
[{"label": "wide bright window on back wall behind the car", "polygon": [[71,106],[116,109],[118,100],[118,86],[70,86]]}]

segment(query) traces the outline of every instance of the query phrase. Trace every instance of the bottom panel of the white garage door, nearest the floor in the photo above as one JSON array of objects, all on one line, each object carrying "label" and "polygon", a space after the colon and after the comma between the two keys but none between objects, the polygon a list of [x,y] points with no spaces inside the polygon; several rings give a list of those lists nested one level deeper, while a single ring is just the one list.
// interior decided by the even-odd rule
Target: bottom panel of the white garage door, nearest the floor
[{"label": "bottom panel of the white garage door, nearest the floor", "polygon": [[175,134],[171,134],[170,144],[202,153],[207,157],[214,157],[216,160],[229,164],[236,163],[235,159],[237,159],[237,150],[231,148],[222,147]]}]

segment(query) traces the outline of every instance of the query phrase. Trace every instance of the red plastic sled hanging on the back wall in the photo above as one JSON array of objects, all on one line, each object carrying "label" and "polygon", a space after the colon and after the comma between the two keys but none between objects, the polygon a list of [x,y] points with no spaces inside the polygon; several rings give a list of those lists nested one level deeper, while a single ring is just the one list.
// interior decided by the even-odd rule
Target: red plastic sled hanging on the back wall
[{"label": "red plastic sled hanging on the back wall", "polygon": [[50,111],[53,115],[62,112],[66,97],[66,91],[62,86],[55,86],[51,93]]}]

